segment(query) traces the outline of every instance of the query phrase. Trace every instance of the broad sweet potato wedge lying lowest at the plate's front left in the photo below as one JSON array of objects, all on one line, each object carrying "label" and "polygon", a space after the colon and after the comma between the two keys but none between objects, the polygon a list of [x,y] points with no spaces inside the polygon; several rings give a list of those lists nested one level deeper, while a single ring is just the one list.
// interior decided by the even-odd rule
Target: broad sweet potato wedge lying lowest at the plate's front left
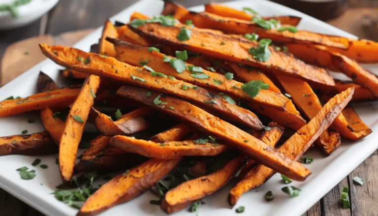
[{"label": "broad sweet potato wedge lying lowest at the plate's front left", "polygon": [[127,170],[92,194],[82,205],[77,216],[98,214],[138,196],[168,174],[180,160],[150,159]]}]

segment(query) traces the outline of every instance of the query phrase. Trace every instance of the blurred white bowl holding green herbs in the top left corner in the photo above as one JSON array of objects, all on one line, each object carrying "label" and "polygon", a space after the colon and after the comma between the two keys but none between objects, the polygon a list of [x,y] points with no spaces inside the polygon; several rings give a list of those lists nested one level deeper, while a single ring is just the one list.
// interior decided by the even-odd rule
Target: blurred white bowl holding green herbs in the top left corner
[{"label": "blurred white bowl holding green herbs in the top left corner", "polygon": [[[0,5],[14,0],[0,0]],[[31,0],[28,4],[17,7],[18,17],[9,11],[0,11],[0,30],[26,26],[37,20],[58,3],[58,0]]]}]

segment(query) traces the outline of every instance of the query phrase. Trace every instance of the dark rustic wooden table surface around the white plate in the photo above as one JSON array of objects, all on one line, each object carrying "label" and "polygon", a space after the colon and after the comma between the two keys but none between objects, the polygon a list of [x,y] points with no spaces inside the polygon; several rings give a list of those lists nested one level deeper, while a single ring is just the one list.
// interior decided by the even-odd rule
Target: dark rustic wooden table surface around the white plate
[{"label": "dark rustic wooden table surface around the white plate", "polygon": [[[225,1],[225,0],[223,0]],[[194,6],[207,1],[177,0],[184,6]],[[221,1],[217,1],[221,2]],[[352,1],[356,6],[357,1]],[[365,2],[366,1],[361,1]],[[62,37],[63,32],[86,30],[101,26],[104,20],[131,5],[133,0],[60,0],[57,6],[42,19],[34,23],[10,31],[0,31],[0,59],[6,47],[16,41],[32,36],[51,34],[55,40],[74,43],[79,39],[76,32],[71,32],[68,38]],[[358,6],[358,4],[357,4]],[[341,17],[327,21],[329,24],[353,33],[359,37],[378,40],[378,9],[374,7],[350,7]],[[81,33],[86,32],[81,31]],[[16,37],[14,36],[16,35]],[[68,44],[67,44],[68,45]],[[27,69],[27,68],[26,68]],[[304,216],[371,216],[378,213],[378,151],[374,152],[343,181],[336,185],[323,198],[307,211]],[[359,176],[365,180],[363,186],[352,184],[352,178]],[[350,190],[351,208],[339,207],[343,186]],[[293,213],[295,215],[295,213]],[[0,216],[43,216],[13,195],[0,189]]]}]

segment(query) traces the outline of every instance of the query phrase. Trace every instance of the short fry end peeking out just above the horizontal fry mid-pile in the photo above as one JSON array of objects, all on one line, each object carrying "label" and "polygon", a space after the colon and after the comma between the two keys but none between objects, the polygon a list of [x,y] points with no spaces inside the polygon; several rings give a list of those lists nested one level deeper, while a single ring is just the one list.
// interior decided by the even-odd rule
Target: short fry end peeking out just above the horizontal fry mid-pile
[{"label": "short fry end peeking out just above the horizontal fry mid-pile", "polygon": [[172,128],[158,133],[150,138],[157,143],[169,142],[171,140],[179,141],[193,130],[192,126],[186,123],[179,123]]}]

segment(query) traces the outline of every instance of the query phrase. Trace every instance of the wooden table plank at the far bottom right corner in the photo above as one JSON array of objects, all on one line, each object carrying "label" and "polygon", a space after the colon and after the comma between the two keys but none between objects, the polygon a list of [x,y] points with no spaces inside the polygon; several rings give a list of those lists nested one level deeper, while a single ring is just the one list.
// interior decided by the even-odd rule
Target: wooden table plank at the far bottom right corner
[{"label": "wooden table plank at the far bottom right corner", "polygon": [[[348,176],[349,198],[351,200],[352,216],[373,216],[378,212],[378,151],[370,155]],[[353,177],[358,176],[365,182],[361,185],[354,185]]]}]

